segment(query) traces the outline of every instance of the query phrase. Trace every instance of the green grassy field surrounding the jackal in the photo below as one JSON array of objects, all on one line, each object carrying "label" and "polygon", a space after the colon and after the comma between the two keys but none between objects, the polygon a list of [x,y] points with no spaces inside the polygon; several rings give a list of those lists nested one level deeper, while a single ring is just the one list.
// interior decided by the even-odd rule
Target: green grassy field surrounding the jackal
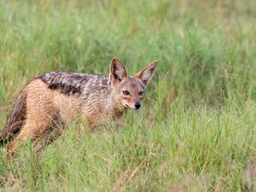
[{"label": "green grassy field surrounding the jackal", "polygon": [[255,17],[250,0],[0,0],[0,127],[38,74],[159,61],[119,131],[0,148],[0,191],[256,191]]}]

